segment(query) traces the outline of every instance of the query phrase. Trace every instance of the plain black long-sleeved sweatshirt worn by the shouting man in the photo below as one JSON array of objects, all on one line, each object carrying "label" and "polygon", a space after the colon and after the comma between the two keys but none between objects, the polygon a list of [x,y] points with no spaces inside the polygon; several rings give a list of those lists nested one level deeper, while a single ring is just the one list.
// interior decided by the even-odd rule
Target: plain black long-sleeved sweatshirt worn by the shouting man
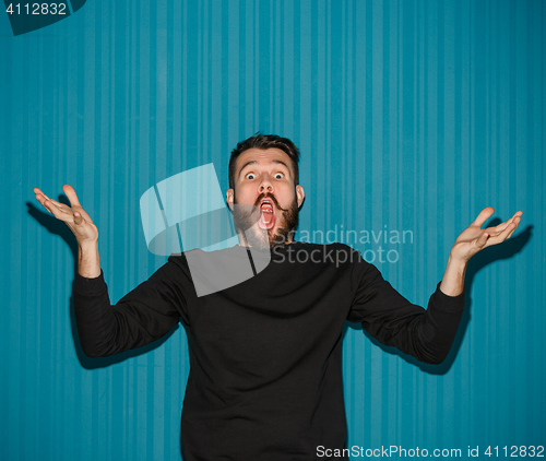
[{"label": "plain black long-sleeved sweatshirt worn by the shouting man", "polygon": [[[214,253],[225,261],[248,258],[245,247],[221,251]],[[76,273],[74,282],[78,332],[88,356],[142,346],[182,319],[190,354],[181,423],[186,461],[328,459],[317,447],[342,449],[346,440],[344,322],[361,322],[381,343],[440,363],[464,307],[463,295],[448,296],[438,284],[425,310],[358,251],[297,241],[276,248],[257,275],[198,297],[192,275],[200,275],[190,271],[190,253],[205,255],[171,255],[115,306],[103,273]]]}]

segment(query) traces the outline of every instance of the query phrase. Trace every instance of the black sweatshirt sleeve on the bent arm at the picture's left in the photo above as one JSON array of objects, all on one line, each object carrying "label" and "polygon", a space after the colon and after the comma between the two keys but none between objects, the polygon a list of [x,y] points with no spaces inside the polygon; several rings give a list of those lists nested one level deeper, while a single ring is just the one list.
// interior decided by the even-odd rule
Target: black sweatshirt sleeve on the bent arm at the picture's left
[{"label": "black sweatshirt sleeve on the bent arm at the picture's left", "polygon": [[96,279],[75,274],[74,316],[83,352],[104,357],[158,340],[182,317],[188,321],[180,283],[183,271],[169,258],[147,281],[110,305],[104,273]]}]

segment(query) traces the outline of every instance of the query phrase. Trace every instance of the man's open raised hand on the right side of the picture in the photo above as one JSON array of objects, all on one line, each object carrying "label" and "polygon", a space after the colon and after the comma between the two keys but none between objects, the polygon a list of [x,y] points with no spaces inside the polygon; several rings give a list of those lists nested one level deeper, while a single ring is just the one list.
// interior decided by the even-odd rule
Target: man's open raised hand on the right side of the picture
[{"label": "man's open raised hand on the right side of the picture", "polygon": [[482,226],[494,212],[495,210],[491,206],[482,210],[476,220],[456,238],[455,245],[453,245],[451,249],[451,257],[466,262],[479,250],[490,247],[491,245],[500,244],[507,238],[510,238],[520,224],[523,212],[518,211],[505,223],[483,229]]}]

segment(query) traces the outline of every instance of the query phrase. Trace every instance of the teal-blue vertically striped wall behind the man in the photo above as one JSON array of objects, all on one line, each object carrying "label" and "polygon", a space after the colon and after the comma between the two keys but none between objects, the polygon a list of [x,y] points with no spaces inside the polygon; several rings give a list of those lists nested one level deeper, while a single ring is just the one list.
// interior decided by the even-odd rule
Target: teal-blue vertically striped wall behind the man
[{"label": "teal-blue vertically striped wall behind the man", "polygon": [[180,456],[183,329],[86,358],[74,241],[33,187],[75,188],[117,300],[166,261],[146,250],[141,194],[210,162],[227,189],[229,151],[258,130],[301,150],[300,239],[408,230],[352,245],[415,303],[483,208],[524,212],[472,261],[446,364],[347,328],[349,446],[546,445],[545,26],[542,0],[88,0],[17,37],[1,12],[0,458]]}]

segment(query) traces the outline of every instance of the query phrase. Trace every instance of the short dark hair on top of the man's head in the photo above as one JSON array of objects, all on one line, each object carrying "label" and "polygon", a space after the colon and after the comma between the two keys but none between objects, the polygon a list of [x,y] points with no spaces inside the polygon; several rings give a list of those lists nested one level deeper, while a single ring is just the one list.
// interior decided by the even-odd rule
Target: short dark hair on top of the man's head
[{"label": "short dark hair on top of the man's head", "polygon": [[277,134],[260,134],[260,132],[251,135],[249,139],[241,141],[232,151],[229,158],[229,188],[235,190],[235,164],[240,154],[249,149],[260,149],[265,151],[268,149],[280,149],[290,157],[292,166],[294,169],[294,186],[299,184],[299,150],[288,138],[281,138]]}]

